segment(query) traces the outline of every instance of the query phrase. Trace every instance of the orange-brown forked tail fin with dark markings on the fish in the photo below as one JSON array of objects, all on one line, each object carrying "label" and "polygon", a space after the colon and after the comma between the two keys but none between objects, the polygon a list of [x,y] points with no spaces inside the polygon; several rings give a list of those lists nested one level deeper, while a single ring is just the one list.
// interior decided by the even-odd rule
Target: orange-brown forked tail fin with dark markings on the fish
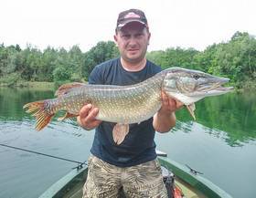
[{"label": "orange-brown forked tail fin with dark markings on the fish", "polygon": [[23,109],[27,109],[27,113],[32,113],[32,116],[36,118],[36,130],[44,129],[55,115],[55,113],[49,113],[45,109],[45,102],[46,100],[40,100],[27,103],[23,106]]}]

